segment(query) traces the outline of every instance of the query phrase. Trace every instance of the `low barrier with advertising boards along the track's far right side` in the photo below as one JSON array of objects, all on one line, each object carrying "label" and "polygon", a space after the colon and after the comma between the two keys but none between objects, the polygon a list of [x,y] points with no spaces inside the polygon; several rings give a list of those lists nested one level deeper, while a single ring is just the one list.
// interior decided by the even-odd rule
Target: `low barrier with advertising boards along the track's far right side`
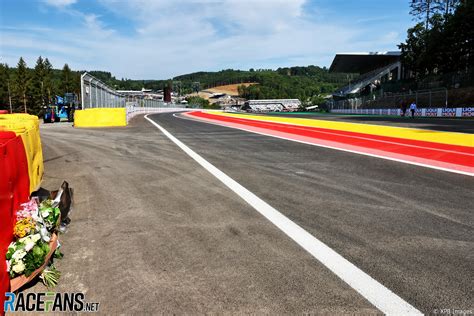
[{"label": "low barrier with advertising boards along the track's far right side", "polygon": [[[400,109],[334,109],[333,113],[343,114],[371,114],[371,115],[397,115],[401,116]],[[407,109],[406,115],[410,116]],[[417,109],[415,116],[427,117],[474,117],[474,107],[466,108],[422,108]]]}]

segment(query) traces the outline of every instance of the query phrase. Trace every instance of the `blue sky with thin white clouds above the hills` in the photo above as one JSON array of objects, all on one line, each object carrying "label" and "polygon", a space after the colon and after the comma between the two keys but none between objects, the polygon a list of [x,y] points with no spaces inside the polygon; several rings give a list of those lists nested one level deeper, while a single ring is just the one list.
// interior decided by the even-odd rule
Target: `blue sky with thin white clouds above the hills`
[{"label": "blue sky with thin white clouds above the hills", "polygon": [[168,79],[397,50],[408,0],[0,0],[0,62]]}]

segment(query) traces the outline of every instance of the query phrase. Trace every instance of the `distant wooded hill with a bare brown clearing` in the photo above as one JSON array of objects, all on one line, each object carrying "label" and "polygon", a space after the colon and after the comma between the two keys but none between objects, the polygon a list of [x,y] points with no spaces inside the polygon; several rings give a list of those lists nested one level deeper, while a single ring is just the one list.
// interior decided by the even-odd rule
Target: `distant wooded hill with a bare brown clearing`
[{"label": "distant wooded hill with a bare brown clearing", "polygon": [[[106,81],[108,82],[108,81]],[[250,83],[258,83],[252,84]],[[196,72],[174,77],[173,80],[116,80],[110,82],[120,89],[161,90],[166,85],[172,85],[173,91],[181,95],[197,91],[223,92],[231,89],[232,95],[247,99],[276,99],[296,98],[309,101],[333,92],[338,87],[348,83],[346,74],[332,74],[326,68],[317,66],[289,67],[271,69],[233,70],[226,69],[217,72]],[[240,89],[239,89],[240,86]],[[212,90],[213,88],[217,90]],[[223,90],[224,89],[224,90]]]}]

